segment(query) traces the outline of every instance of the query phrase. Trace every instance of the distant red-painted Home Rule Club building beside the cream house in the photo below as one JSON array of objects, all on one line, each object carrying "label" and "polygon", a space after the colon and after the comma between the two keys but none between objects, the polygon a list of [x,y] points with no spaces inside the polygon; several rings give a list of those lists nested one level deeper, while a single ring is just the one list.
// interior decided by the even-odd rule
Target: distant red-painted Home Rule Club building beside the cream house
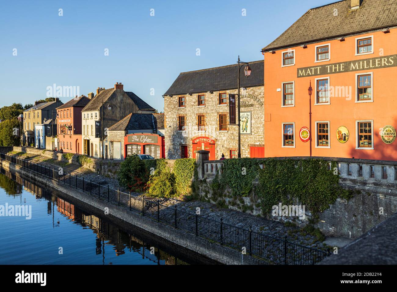
[{"label": "distant red-painted Home Rule Club building beside the cream house", "polygon": [[56,108],[58,133],[57,149],[66,153],[80,154],[81,149],[81,110],[90,101],[85,95],[75,97]]}]

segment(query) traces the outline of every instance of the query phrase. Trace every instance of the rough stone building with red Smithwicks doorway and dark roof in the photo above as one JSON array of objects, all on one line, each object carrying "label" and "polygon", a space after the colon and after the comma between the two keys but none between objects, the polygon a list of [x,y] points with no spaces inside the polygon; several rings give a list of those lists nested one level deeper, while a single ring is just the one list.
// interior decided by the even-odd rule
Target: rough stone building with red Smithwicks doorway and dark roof
[{"label": "rough stone building with red Smithwicks doorway and dark roof", "polygon": [[[263,61],[249,65],[249,78],[243,68],[240,73],[241,157],[263,157]],[[200,149],[210,151],[210,160],[222,154],[237,157],[239,127],[229,124],[229,94],[237,96],[236,73],[237,64],[179,74],[164,94],[166,158],[195,158]]]}]

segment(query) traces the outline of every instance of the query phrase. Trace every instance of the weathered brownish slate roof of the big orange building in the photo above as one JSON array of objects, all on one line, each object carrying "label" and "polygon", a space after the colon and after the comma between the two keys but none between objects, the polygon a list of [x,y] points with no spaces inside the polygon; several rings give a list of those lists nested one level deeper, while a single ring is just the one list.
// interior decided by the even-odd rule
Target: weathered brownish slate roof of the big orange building
[{"label": "weathered brownish slate roof of the big orange building", "polygon": [[[309,9],[291,27],[262,50],[314,43],[343,35],[364,33],[397,25],[397,0],[362,0],[351,10],[351,0]],[[333,15],[337,9],[337,16]]]}]

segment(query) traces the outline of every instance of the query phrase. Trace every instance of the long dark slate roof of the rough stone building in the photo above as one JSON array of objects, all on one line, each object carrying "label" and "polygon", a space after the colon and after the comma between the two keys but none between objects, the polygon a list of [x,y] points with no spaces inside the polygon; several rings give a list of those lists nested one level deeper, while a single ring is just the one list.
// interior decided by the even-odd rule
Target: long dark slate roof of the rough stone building
[{"label": "long dark slate roof of the rough stone building", "polygon": [[[175,79],[164,95],[180,95],[186,93],[236,89],[237,66],[238,64],[233,64],[179,73],[177,79]],[[240,86],[252,87],[263,85],[263,60],[250,62],[249,66],[252,70],[249,78],[244,75],[244,64],[240,70]]]}]

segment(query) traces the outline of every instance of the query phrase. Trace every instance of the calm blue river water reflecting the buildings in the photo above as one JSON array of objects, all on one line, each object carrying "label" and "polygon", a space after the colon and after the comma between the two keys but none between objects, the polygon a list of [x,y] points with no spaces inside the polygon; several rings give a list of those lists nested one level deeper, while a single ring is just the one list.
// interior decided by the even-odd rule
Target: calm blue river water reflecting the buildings
[{"label": "calm blue river water reflecting the buildings", "polygon": [[[32,219],[25,220],[25,222],[15,219],[16,217],[3,217],[3,219],[0,217],[2,223],[4,220],[8,220],[6,224],[8,224],[7,226],[11,224],[10,228],[12,228],[2,230],[3,224],[0,225],[0,233],[5,231],[4,234],[8,234],[0,242],[0,263],[40,264],[43,260],[42,257],[44,257],[44,263],[98,264],[98,257],[100,256],[102,256],[101,262],[103,265],[116,263],[188,265],[201,263],[197,259],[198,257],[187,259],[185,253],[174,253],[173,249],[168,246],[164,248],[166,244],[162,243],[160,246],[163,246],[163,248],[158,248],[159,244],[153,244],[153,240],[150,240],[150,238],[144,238],[137,232],[126,232],[125,228],[121,228],[114,222],[105,220],[98,215],[84,211],[59,195],[50,193],[42,186],[37,186],[4,170],[1,170],[1,173],[1,204],[4,201],[15,204],[15,201],[19,199],[18,201],[22,204],[33,205],[34,211]],[[48,219],[52,223],[51,228],[48,228]],[[12,226],[13,224],[15,226]],[[78,225],[80,228],[76,230],[71,225]],[[7,232],[10,230],[14,230],[14,232],[11,234]],[[91,230],[94,238],[92,234],[87,234],[88,230]],[[18,234],[21,232],[24,233],[22,237]],[[20,238],[26,238],[25,236],[29,237],[29,245],[37,249],[46,247],[52,250],[54,246],[58,247],[62,244],[65,251],[64,255],[66,251],[68,252],[67,256],[63,255],[63,258],[67,261],[59,260],[60,257],[54,251],[52,251],[52,255],[49,255],[49,252],[26,251],[24,249],[27,253],[16,257],[15,252],[23,253],[24,250],[19,248],[17,251],[12,251],[10,246],[14,242],[19,242]],[[45,240],[43,240],[43,237]],[[40,247],[40,245],[43,247]],[[24,256],[29,256],[31,261],[23,262]],[[16,262],[15,258],[17,259]]]}]

